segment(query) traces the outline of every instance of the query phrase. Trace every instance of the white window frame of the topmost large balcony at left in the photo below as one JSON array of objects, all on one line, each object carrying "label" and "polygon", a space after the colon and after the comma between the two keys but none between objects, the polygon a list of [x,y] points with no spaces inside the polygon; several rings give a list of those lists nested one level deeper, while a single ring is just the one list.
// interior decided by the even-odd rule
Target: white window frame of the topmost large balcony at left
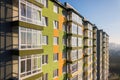
[{"label": "white window frame of the topmost large balcony at left", "polygon": [[[26,6],[25,7],[26,16],[22,16],[22,14],[21,14],[21,11],[23,11],[23,10],[21,10],[21,4],[24,4]],[[27,17],[27,6],[29,6],[31,8],[31,18]],[[19,9],[19,14],[20,14],[19,15],[19,20],[20,21],[27,22],[27,23],[30,23],[30,24],[35,24],[35,25],[42,25],[42,19],[41,19],[41,17],[42,17],[42,9],[40,7],[38,7],[38,6],[36,6],[36,5],[32,4],[32,3],[29,3],[29,2],[27,2],[25,0],[20,0],[19,7],[20,7],[20,9]],[[40,20],[38,20],[38,16],[37,16],[38,11],[40,12],[40,14],[39,14],[39,17],[40,17],[39,19]]]}]

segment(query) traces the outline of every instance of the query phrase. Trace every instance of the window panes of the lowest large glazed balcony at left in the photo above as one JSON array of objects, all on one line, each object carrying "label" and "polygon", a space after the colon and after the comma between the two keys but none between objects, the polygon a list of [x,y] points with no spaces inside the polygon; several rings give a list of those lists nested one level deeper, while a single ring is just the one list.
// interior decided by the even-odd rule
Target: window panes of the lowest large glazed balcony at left
[{"label": "window panes of the lowest large glazed balcony at left", "polygon": [[28,55],[20,57],[20,76],[25,77],[40,72],[42,69],[41,55]]}]

